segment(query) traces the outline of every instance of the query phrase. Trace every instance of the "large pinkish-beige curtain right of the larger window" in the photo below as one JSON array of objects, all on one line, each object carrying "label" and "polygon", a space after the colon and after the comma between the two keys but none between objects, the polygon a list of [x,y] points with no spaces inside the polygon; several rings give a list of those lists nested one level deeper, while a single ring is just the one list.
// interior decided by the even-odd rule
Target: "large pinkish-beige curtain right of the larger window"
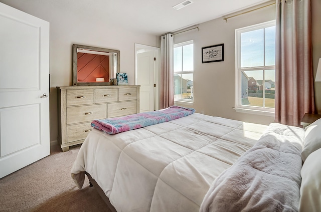
[{"label": "large pinkish-beige curtain right of the larger window", "polygon": [[310,0],[276,0],[275,122],[314,113]]}]

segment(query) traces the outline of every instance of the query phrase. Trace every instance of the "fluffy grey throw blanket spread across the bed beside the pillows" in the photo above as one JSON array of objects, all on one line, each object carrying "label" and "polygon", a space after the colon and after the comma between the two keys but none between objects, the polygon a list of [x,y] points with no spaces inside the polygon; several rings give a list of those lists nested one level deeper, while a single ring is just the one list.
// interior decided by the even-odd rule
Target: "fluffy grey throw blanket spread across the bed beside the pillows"
[{"label": "fluffy grey throw blanket spread across the bed beside the pillows", "polygon": [[298,211],[304,130],[270,124],[212,183],[200,211]]}]

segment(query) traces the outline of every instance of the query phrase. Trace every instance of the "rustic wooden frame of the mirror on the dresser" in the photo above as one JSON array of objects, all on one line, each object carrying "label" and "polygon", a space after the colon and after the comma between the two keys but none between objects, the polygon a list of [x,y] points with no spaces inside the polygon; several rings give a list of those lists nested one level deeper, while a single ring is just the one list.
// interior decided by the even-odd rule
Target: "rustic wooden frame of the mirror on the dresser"
[{"label": "rustic wooden frame of the mirror on the dresser", "polygon": [[[116,73],[120,73],[120,51],[114,49],[105,49],[100,47],[91,47],[91,46],[83,46],[78,44],[73,44],[73,63],[72,63],[72,85],[73,86],[90,86],[90,85],[113,85],[111,82],[78,82],[77,80],[77,49],[86,49],[93,50],[97,52],[108,52],[108,53],[117,53],[117,71]],[[114,76],[115,77],[115,76]],[[110,78],[114,78],[110,77]]]}]

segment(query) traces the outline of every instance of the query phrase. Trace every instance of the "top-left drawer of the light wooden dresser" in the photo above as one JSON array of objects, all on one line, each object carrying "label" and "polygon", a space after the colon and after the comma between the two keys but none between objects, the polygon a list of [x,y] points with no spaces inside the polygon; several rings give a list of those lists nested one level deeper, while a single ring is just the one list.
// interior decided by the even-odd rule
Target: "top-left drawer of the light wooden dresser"
[{"label": "top-left drawer of the light wooden dresser", "polygon": [[67,106],[94,104],[94,89],[67,90]]}]

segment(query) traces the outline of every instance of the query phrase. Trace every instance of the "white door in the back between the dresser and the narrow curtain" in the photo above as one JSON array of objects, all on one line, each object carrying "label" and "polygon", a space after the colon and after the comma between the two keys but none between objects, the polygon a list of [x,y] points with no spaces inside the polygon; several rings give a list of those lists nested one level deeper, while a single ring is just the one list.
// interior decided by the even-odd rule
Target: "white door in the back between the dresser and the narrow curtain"
[{"label": "white door in the back between the dresser and the narrow curtain", "polygon": [[157,59],[159,48],[145,45],[136,46],[136,85],[139,88],[140,112],[157,110],[158,72]]}]

